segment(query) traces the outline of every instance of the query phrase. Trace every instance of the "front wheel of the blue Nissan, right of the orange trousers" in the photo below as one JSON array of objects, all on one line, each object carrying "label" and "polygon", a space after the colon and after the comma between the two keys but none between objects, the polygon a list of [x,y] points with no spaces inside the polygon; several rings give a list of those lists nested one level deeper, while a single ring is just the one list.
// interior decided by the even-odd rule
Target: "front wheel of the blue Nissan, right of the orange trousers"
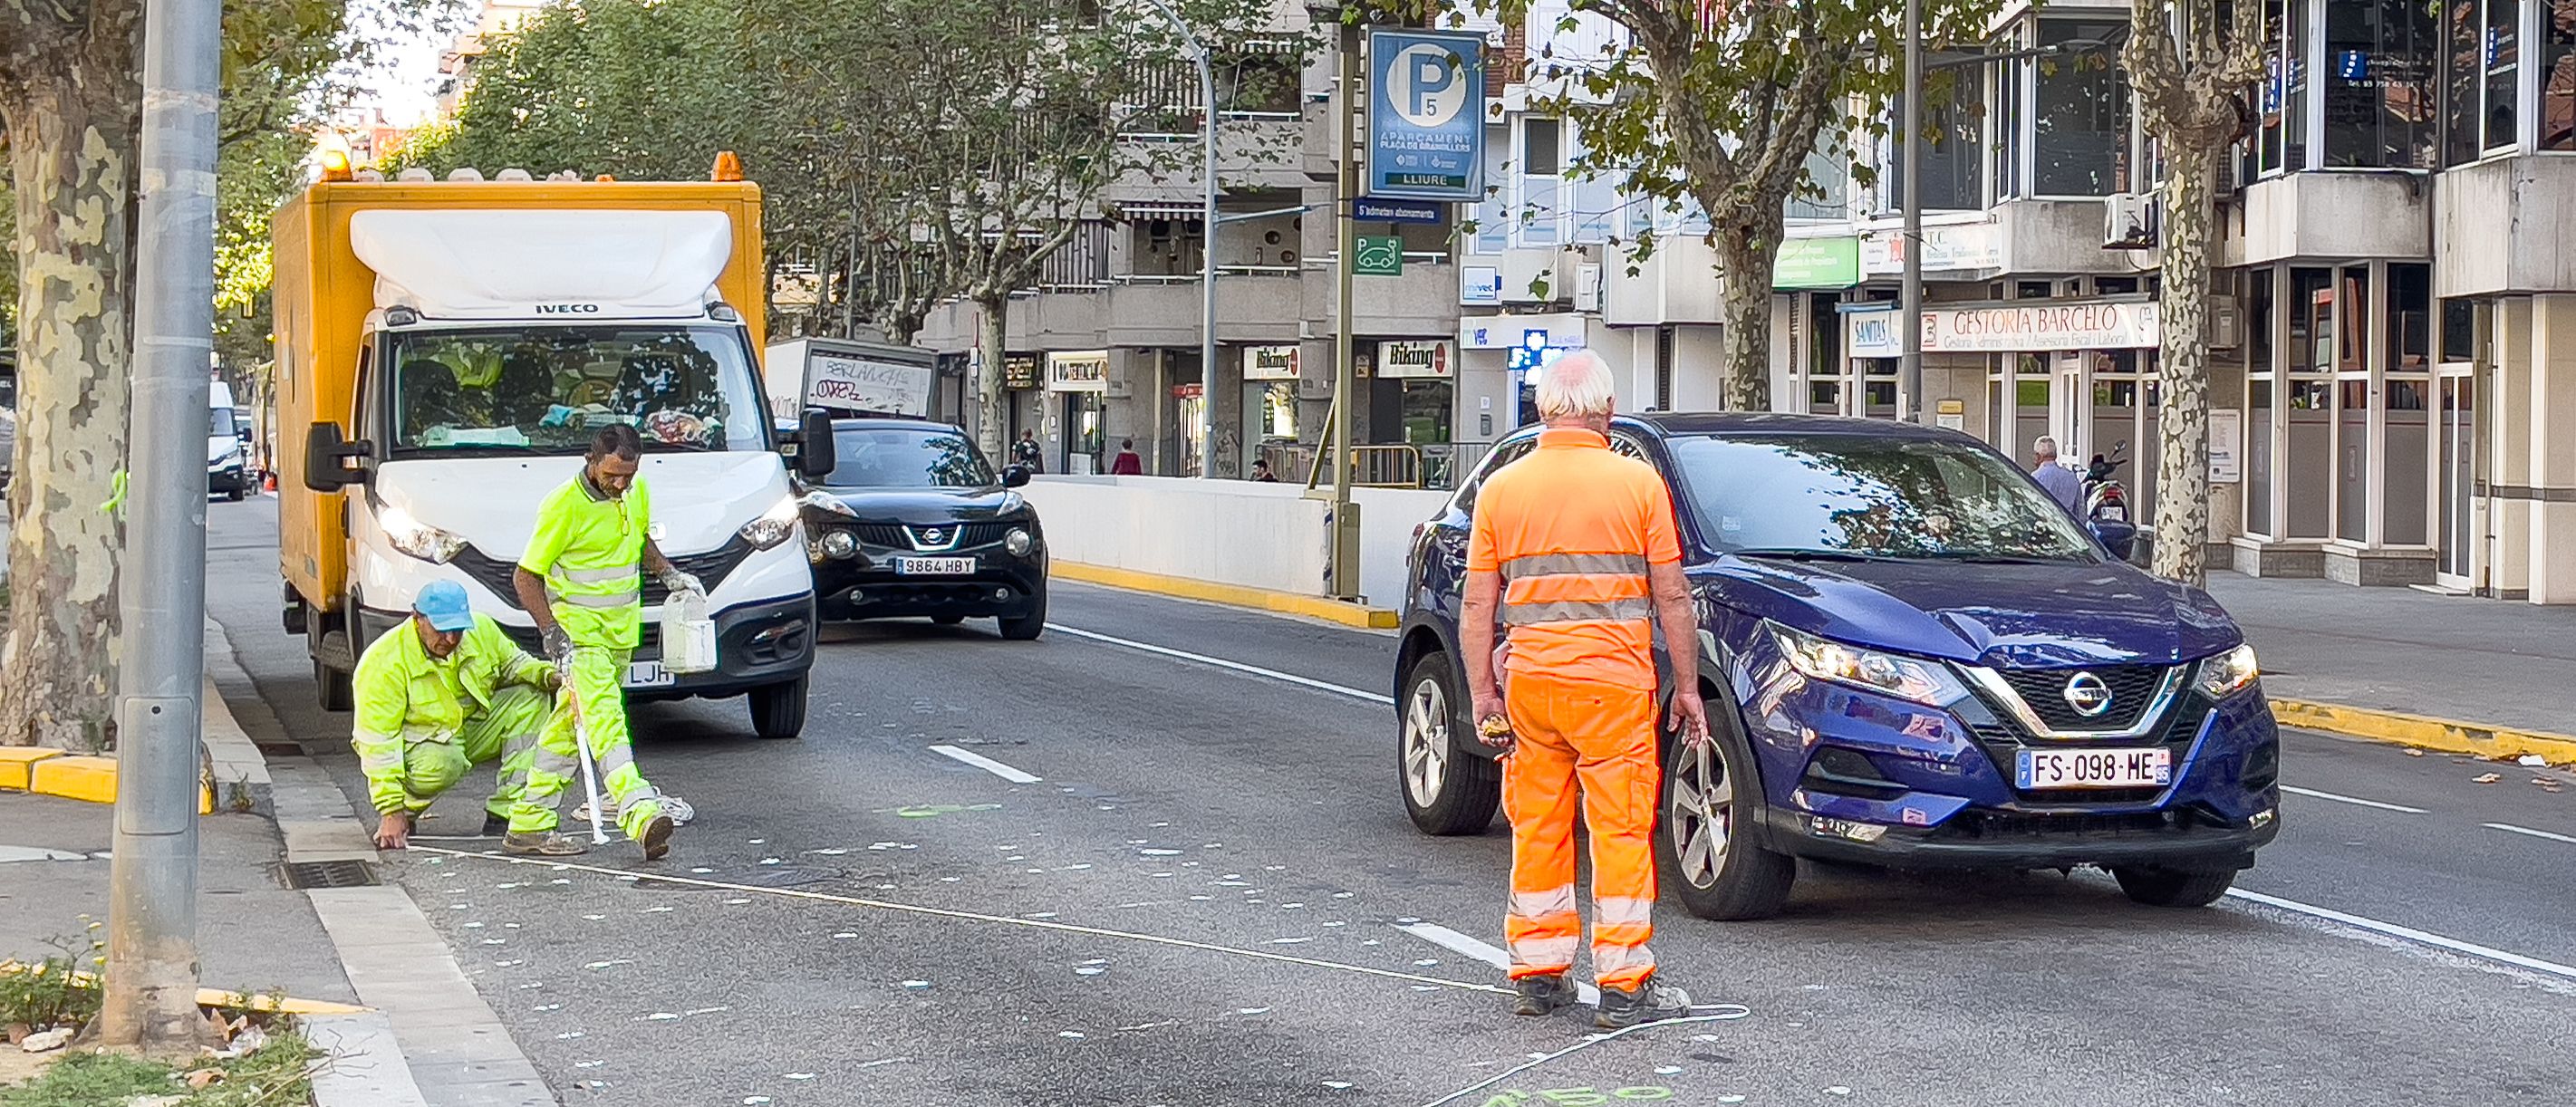
[{"label": "front wheel of the blue Nissan, right of the orange trousers", "polygon": [[1798,860],[1741,837],[1759,788],[1734,741],[1723,700],[1708,700],[1708,741],[1672,739],[1664,749],[1664,803],[1654,832],[1656,868],[1700,919],[1767,919],[1788,904]]}]

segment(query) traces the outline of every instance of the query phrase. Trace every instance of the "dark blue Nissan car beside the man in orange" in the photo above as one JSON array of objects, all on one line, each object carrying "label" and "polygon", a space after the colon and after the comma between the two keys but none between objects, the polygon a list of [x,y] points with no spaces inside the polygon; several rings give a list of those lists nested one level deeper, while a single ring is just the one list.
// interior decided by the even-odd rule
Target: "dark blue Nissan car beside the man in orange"
[{"label": "dark blue Nissan car beside the man in orange", "polygon": [[[1430,834],[1494,819],[1458,610],[1476,487],[1414,530],[1396,721]],[[1713,741],[1664,734],[1664,886],[1708,919],[1775,914],[1795,857],[2107,868],[2205,906],[2280,834],[2280,736],[2254,651],[2205,592],[2133,569],[1976,438],[1803,414],[1620,417],[1672,484]],[[1669,656],[1656,656],[1674,687]]]}]

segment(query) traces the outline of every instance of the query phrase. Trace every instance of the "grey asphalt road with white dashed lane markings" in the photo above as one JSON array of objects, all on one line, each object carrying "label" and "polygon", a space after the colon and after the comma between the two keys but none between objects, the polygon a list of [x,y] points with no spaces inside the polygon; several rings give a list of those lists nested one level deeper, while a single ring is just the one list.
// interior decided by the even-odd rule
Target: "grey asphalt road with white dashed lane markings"
[{"label": "grey asphalt road with white dashed lane markings", "polygon": [[[278,631],[270,502],[211,517],[216,618],[355,795],[348,716]],[[1664,971],[1747,1014],[1584,1045],[1504,1014],[1476,960],[1499,821],[1404,821],[1388,636],[1074,584],[1054,620],[835,631],[799,741],[739,700],[639,708],[644,770],[701,814],[659,865],[386,873],[567,1104],[2568,1097],[2576,798],[2530,770],[2290,736],[2285,780],[2334,798],[2293,795],[2239,883],[2290,906],[1811,870],[1775,922],[1667,909]],[[428,834],[471,832],[474,788]]]}]

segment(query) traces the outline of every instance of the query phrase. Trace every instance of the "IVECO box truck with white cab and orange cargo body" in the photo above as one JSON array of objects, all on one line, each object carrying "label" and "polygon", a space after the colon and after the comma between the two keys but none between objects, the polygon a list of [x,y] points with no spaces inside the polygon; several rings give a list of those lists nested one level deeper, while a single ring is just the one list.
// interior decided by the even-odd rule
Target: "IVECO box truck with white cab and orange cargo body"
[{"label": "IVECO box truck with white cab and orange cargo body", "polygon": [[[629,695],[747,695],[760,736],[804,726],[814,574],[781,456],[832,469],[829,422],[770,420],[760,188],[353,180],[278,209],[278,566],[325,708],[422,587],[459,582],[536,649],[510,572],[538,502],[603,425],[644,438],[652,541],[706,584],[716,669],[672,674],[644,587]],[[817,469],[819,466],[819,469]]]}]

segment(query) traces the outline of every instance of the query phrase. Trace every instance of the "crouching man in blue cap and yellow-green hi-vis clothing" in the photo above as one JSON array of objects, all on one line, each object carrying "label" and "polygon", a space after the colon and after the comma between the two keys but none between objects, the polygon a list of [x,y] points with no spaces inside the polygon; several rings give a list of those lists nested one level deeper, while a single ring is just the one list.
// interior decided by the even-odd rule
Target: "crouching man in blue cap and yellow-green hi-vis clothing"
[{"label": "crouching man in blue cap and yellow-green hi-vis clothing", "polygon": [[[376,847],[402,850],[448,788],[474,765],[500,762],[500,788],[484,803],[484,834],[507,834],[510,852],[546,852],[554,811],[528,803],[528,770],[564,677],[477,615],[464,584],[420,590],[412,618],[386,631],[350,677],[358,718],[350,747],[376,806]],[[544,826],[518,834],[520,826]],[[580,852],[574,844],[572,852]]]}]

